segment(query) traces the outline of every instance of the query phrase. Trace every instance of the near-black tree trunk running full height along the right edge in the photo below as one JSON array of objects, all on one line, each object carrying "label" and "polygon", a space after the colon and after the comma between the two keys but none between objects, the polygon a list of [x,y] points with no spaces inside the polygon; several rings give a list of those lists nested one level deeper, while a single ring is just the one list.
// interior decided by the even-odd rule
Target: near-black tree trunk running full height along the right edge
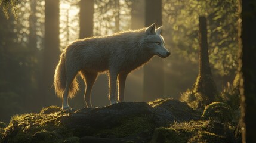
[{"label": "near-black tree trunk running full height along the right edge", "polygon": [[[242,2],[242,3],[241,3]],[[239,13],[239,72],[241,94],[242,142],[256,141],[256,3],[240,0]]]}]

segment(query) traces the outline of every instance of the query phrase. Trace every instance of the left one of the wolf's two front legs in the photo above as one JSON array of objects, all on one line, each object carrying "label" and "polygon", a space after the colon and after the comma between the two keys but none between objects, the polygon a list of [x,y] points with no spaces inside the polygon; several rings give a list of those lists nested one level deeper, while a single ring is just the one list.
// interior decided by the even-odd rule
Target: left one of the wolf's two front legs
[{"label": "left one of the wolf's two front legs", "polygon": [[110,94],[109,94],[109,100],[110,104],[116,104],[116,79],[118,77],[118,74],[109,71],[109,89],[110,89]]}]

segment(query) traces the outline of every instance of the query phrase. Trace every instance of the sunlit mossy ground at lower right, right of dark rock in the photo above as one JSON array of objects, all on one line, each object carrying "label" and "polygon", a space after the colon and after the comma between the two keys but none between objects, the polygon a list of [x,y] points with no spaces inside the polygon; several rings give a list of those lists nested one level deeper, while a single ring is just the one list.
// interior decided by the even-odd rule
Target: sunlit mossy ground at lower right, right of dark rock
[{"label": "sunlit mossy ground at lower right, right of dark rock", "polygon": [[191,121],[175,123],[169,128],[156,128],[151,142],[240,142],[240,137],[233,135],[232,125],[226,127],[223,123],[216,122]]}]

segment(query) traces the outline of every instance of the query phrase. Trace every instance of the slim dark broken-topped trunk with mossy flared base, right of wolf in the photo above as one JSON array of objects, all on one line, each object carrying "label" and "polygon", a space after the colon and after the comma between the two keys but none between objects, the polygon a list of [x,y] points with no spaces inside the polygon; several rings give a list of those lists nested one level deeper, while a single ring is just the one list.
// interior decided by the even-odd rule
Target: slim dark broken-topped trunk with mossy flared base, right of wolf
[{"label": "slim dark broken-topped trunk with mossy flared base, right of wolf", "polygon": [[[209,64],[207,24],[205,17],[199,17],[199,74],[196,79],[195,93],[200,93],[202,105],[211,104],[217,95],[217,88],[212,78]],[[200,100],[199,100],[200,101]]]}]

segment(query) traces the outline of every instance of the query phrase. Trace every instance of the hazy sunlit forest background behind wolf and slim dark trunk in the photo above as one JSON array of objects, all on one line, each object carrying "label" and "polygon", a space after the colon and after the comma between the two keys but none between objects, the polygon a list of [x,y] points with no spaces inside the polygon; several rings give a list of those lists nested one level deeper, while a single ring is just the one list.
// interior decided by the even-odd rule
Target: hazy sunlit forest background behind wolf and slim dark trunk
[{"label": "hazy sunlit forest background behind wolf and slim dark trunk", "polygon": [[[110,35],[140,29],[153,22],[163,27],[165,46],[171,51],[162,60],[153,57],[145,67],[127,77],[126,101],[179,99],[198,75],[198,17],[208,20],[209,62],[219,92],[237,69],[238,4],[235,0],[24,0],[17,18],[0,13],[0,120],[13,114],[38,112],[61,106],[55,96],[53,76],[58,57],[78,38]],[[2,9],[2,7],[1,7]],[[69,100],[72,108],[84,107],[85,85]],[[92,89],[94,106],[109,105],[106,74]]]}]

